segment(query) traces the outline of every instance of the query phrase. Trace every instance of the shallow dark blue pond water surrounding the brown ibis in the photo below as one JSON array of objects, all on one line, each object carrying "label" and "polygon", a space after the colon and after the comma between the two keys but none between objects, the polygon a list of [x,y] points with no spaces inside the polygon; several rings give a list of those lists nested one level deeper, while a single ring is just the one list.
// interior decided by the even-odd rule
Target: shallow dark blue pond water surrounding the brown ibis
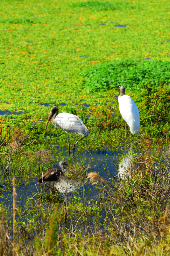
[{"label": "shallow dark blue pond water surrounding the brown ibis", "polygon": [[[48,148],[49,149],[49,148]],[[106,149],[103,151],[92,151],[90,153],[79,152],[78,147],[76,148],[75,158],[73,158],[73,155],[71,154],[70,158],[67,155],[66,148],[57,148],[53,151],[51,149],[51,152],[54,152],[53,154],[53,161],[50,165],[50,168],[55,168],[58,166],[58,163],[60,160],[65,160],[66,163],[68,163],[70,166],[74,167],[74,171],[76,173],[75,176],[71,176],[71,179],[67,181],[67,175],[64,175],[60,182],[56,182],[54,184],[54,189],[44,187],[42,188],[42,184],[37,184],[38,179],[40,178],[40,175],[32,175],[31,171],[33,169],[30,169],[30,172],[27,172],[27,175],[25,175],[27,178],[22,178],[22,175],[18,178],[16,175],[16,209],[17,207],[20,210],[20,213],[17,214],[18,223],[19,221],[22,223],[26,223],[24,225],[28,225],[28,222],[35,219],[35,223],[37,223],[38,219],[34,217],[34,213],[32,211],[38,211],[38,205],[40,202],[42,202],[43,209],[46,209],[48,212],[48,218],[51,218],[53,214],[52,208],[54,207],[55,203],[58,203],[58,207],[63,207],[63,202],[66,198],[66,188],[67,188],[67,202],[71,203],[74,202],[74,204],[79,204],[80,207],[82,203],[84,202],[86,206],[89,204],[92,205],[95,204],[95,207],[97,206],[98,202],[101,200],[100,192],[97,188],[98,185],[92,185],[89,182],[89,179],[85,175],[82,175],[82,173],[79,175],[79,171],[81,169],[81,164],[86,165],[88,164],[88,172],[97,172],[99,175],[101,175],[105,180],[109,181],[111,185],[115,184],[115,178],[118,175],[118,167],[121,163],[120,156],[124,155],[124,149],[121,148],[120,150],[117,150],[116,152],[112,151],[111,149]],[[59,155],[60,152],[60,155]],[[39,163],[34,162],[33,168],[37,169]],[[43,163],[41,163],[42,167]],[[47,170],[49,170],[49,165],[47,164],[48,168],[46,167],[46,164],[43,168],[43,173],[45,173]],[[77,167],[77,168],[76,168]],[[1,166],[2,168],[2,166]],[[76,170],[77,169],[77,170]],[[67,169],[66,169],[67,170]],[[25,170],[26,171],[26,170]],[[38,172],[38,171],[37,171]],[[11,176],[6,177],[5,179],[8,179],[8,183],[4,181],[4,184],[2,184],[0,189],[0,207],[5,208],[5,212],[8,215],[8,224],[12,225],[13,220],[13,197],[12,197],[12,182],[11,182]],[[6,185],[9,184],[9,185]],[[52,184],[51,184],[52,187]],[[100,187],[100,185],[99,185]],[[42,200],[39,200],[39,194],[41,193],[42,189]],[[83,193],[84,189],[84,193]],[[107,197],[107,195],[106,195]],[[54,203],[54,204],[53,204]],[[83,203],[83,204],[84,204]],[[40,203],[41,204],[41,203]],[[33,209],[32,209],[33,207]],[[73,207],[73,206],[72,206]],[[36,208],[36,209],[35,209]],[[89,209],[89,208],[88,208]],[[22,214],[22,212],[24,214]],[[29,212],[27,216],[27,212]],[[49,213],[51,212],[51,213]],[[106,217],[105,209],[102,208],[99,211],[98,215],[98,221],[103,223],[103,220]],[[22,216],[21,216],[22,214]],[[26,215],[25,215],[26,214]],[[90,213],[90,218],[88,220],[89,225],[93,226],[93,223],[96,221],[96,211],[92,210]],[[69,218],[69,215],[68,215]],[[73,222],[76,221],[76,217],[71,217]],[[48,221],[47,221],[48,222]],[[46,228],[48,228],[48,223],[46,223]],[[74,223],[75,224],[75,223]],[[36,224],[34,224],[36,225]],[[61,226],[65,225],[64,222],[61,223]],[[67,223],[67,228],[70,228],[71,224]],[[80,224],[81,226],[82,224]],[[11,226],[12,227],[12,226]],[[26,227],[26,226],[25,226]],[[101,229],[102,229],[101,225]],[[83,226],[82,226],[83,228]],[[36,234],[36,232],[35,232]]]}]

